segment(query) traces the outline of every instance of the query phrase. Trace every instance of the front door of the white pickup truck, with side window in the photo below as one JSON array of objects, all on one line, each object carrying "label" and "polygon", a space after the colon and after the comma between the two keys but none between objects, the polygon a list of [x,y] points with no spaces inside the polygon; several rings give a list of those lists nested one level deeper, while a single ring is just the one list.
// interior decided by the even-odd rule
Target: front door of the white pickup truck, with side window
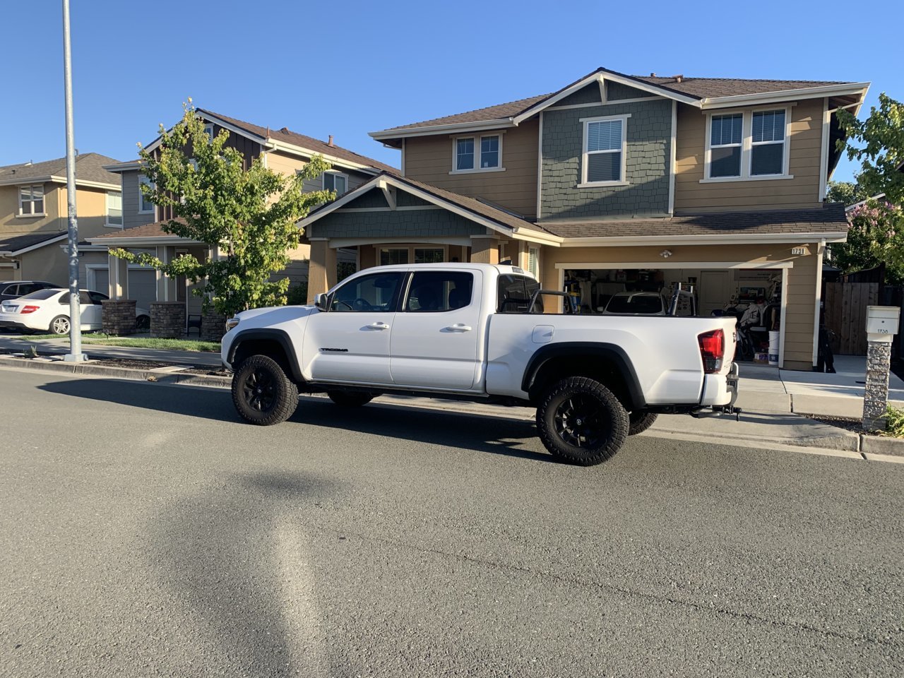
[{"label": "front door of the white pickup truck, with side window", "polygon": [[329,297],[329,310],[310,316],[303,371],[314,381],[390,384],[390,335],[401,271],[352,278]]}]

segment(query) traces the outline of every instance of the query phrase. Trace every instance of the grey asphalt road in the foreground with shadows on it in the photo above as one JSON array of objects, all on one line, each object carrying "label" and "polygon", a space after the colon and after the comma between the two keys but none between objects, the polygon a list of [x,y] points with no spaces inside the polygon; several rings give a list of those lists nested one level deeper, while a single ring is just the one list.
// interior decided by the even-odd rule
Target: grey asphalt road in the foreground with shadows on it
[{"label": "grey asphalt road in the foreground with shadows on it", "polygon": [[900,676],[904,465],[0,369],[4,676]]}]

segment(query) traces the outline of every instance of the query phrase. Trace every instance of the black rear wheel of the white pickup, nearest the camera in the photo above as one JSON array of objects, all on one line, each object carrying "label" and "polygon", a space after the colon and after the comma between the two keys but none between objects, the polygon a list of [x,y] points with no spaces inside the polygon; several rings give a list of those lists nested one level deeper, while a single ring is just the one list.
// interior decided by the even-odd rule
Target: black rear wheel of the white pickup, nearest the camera
[{"label": "black rear wheel of the white pickup, nearest the camera", "polygon": [[599,381],[569,377],[546,391],[537,408],[537,428],[552,455],[571,464],[594,466],[621,449],[628,416]]}]

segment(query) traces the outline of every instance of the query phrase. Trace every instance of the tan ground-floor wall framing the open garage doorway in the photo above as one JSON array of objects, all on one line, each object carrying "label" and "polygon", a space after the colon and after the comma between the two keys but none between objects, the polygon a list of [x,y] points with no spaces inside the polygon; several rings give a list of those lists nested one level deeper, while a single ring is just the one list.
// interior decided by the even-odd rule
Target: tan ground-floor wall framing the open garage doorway
[{"label": "tan ground-floor wall framing the open garage doorway", "polygon": [[[809,254],[793,256],[792,247],[805,246]],[[809,369],[813,364],[813,336],[816,296],[816,262],[818,244],[788,243],[763,245],[670,246],[673,255],[669,265],[686,262],[768,262],[791,261],[788,269],[787,306],[782,323],[785,325],[785,366],[788,369]],[[660,247],[609,248],[551,248],[541,250],[541,285],[547,289],[559,287],[557,263],[630,263],[655,262]],[[631,268],[631,267],[626,267]],[[649,268],[655,268],[651,266]],[[678,267],[680,268],[680,267]],[[688,266],[687,268],[694,268]]]}]

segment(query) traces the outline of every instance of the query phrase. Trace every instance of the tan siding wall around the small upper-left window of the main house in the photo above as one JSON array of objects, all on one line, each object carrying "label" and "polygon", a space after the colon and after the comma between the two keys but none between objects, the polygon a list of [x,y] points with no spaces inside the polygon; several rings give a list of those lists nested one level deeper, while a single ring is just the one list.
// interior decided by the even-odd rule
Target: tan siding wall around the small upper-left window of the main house
[{"label": "tan siding wall around the small upper-left window of the main house", "polygon": [[475,136],[497,133],[503,137],[504,172],[449,174],[453,140],[442,134],[405,139],[405,176],[462,195],[485,198],[533,219],[537,213],[540,123],[528,120],[519,127],[475,132]]}]

